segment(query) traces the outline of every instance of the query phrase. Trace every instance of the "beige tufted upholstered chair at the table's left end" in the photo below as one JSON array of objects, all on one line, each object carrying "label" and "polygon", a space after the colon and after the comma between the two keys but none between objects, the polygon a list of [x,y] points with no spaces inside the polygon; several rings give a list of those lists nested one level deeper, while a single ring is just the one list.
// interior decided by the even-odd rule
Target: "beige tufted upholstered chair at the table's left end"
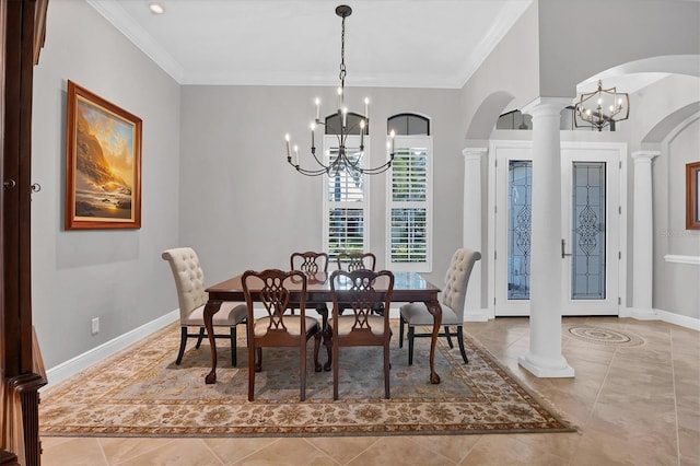
[{"label": "beige tufted upholstered chair at the table's left end", "polygon": [[[205,305],[209,299],[205,291],[205,272],[197,253],[191,247],[176,247],[166,249],[161,257],[171,266],[177,302],[179,304],[180,341],[175,364],[179,365],[185,354],[188,338],[197,338],[195,348],[199,348],[206,337]],[[236,302],[222,302],[219,312],[213,316],[213,326],[229,327],[229,334],[214,334],[214,338],[231,340],[231,364],[236,365],[236,326],[245,324],[246,305]],[[189,327],[199,327],[199,333],[190,334]]]}]

